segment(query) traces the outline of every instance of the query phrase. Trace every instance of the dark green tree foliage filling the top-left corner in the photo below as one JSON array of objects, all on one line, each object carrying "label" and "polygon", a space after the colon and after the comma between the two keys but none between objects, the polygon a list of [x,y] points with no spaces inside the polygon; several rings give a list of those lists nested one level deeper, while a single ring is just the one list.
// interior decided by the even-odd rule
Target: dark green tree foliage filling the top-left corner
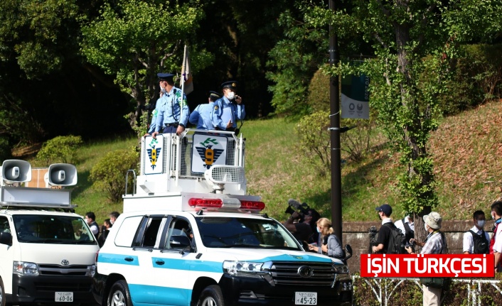
[{"label": "dark green tree foliage filling the top-left corner", "polygon": [[59,70],[75,50],[75,0],[0,1],[0,59],[16,58],[28,78]]}]

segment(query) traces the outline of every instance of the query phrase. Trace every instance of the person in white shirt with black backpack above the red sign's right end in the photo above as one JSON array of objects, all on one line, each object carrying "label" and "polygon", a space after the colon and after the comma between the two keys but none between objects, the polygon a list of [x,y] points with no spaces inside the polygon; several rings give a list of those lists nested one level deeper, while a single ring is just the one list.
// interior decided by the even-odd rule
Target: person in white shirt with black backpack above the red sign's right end
[{"label": "person in white shirt with black backpack above the red sign's right end", "polygon": [[490,236],[483,230],[486,218],[482,210],[473,214],[474,226],[464,233],[464,254],[490,253]]}]

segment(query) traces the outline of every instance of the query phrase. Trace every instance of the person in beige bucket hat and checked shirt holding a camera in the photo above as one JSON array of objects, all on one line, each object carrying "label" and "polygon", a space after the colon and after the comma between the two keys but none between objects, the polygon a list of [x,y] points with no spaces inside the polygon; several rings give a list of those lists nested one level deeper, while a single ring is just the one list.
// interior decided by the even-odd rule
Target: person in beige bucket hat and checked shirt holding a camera
[{"label": "person in beige bucket hat and checked shirt holding a camera", "polygon": [[[439,231],[441,229],[442,217],[437,212],[431,212],[424,216],[424,226],[428,235],[424,242],[415,241],[418,246],[422,246],[421,254],[446,254],[447,239],[444,234]],[[407,247],[406,251],[410,254],[415,253],[411,247]],[[423,305],[440,305],[442,288],[434,288],[431,286],[422,285]]]}]

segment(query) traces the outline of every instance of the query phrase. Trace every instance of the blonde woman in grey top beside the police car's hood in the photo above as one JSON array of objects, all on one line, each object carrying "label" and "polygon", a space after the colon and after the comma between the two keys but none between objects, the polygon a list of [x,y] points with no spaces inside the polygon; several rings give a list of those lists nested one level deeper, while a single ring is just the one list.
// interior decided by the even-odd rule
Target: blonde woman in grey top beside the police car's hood
[{"label": "blonde woman in grey top beside the police car's hood", "polygon": [[317,240],[317,244],[309,244],[309,250],[333,258],[344,258],[345,254],[343,253],[340,239],[333,234],[331,221],[328,218],[321,218],[317,220],[316,225],[319,239]]}]

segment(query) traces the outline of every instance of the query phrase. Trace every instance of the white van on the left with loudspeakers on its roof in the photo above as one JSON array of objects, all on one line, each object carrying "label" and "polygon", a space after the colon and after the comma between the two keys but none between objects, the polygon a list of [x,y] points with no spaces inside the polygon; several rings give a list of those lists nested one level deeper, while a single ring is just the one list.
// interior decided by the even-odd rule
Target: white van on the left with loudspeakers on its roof
[{"label": "white van on the left with loudspeakers on its roof", "polygon": [[92,302],[99,246],[82,216],[73,212],[71,190],[20,187],[22,180],[6,180],[15,165],[2,167],[0,306]]}]

